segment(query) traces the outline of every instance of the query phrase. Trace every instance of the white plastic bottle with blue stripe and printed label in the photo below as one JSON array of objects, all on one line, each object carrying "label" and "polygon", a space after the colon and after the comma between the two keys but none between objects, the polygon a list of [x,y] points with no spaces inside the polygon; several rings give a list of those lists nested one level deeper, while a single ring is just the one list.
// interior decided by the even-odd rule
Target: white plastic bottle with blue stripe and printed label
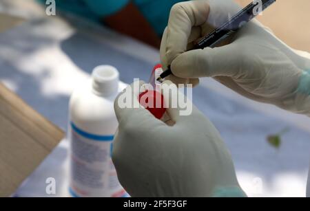
[{"label": "white plastic bottle with blue stripe and printed label", "polygon": [[92,79],[70,99],[70,193],[73,197],[125,197],[112,164],[118,122],[114,99],[126,85],[112,66],[96,67]]}]

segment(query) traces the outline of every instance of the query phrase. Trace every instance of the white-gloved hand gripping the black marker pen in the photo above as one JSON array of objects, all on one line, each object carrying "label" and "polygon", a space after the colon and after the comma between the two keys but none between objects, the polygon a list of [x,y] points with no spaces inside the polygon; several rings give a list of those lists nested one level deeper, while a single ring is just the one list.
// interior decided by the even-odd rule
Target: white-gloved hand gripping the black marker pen
[{"label": "white-gloved hand gripping the black marker pen", "polygon": [[252,100],[310,115],[309,54],[291,49],[258,21],[247,23],[227,45],[187,51],[240,9],[230,0],[174,5],[161,43],[163,67],[171,65],[174,74],[169,80],[196,85],[197,78],[213,77]]}]

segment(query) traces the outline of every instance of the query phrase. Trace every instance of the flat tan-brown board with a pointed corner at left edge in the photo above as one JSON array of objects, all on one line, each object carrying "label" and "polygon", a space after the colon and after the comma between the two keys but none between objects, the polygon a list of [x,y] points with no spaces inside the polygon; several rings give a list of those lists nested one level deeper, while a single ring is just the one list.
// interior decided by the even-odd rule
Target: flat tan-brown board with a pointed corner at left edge
[{"label": "flat tan-brown board with a pointed corner at left edge", "polygon": [[12,195],[63,135],[0,84],[0,197]]}]

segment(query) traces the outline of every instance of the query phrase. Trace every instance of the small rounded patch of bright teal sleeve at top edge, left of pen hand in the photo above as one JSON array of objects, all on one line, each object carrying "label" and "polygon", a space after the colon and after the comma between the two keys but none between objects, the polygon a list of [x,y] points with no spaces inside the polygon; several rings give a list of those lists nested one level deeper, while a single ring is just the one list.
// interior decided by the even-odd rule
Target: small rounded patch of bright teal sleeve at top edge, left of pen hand
[{"label": "small rounded patch of bright teal sleeve at top edge, left of pen hand", "polygon": [[85,4],[97,16],[110,16],[127,5],[130,0],[84,0]]}]

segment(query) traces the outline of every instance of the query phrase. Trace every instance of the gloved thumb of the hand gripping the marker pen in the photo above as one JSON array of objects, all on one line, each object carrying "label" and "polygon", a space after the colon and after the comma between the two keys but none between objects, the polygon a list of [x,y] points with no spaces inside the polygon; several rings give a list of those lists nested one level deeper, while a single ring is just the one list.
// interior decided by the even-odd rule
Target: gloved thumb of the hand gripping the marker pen
[{"label": "gloved thumb of the hand gripping the marker pen", "polygon": [[240,65],[237,54],[231,44],[185,52],[172,61],[172,73],[180,78],[234,77]]}]

